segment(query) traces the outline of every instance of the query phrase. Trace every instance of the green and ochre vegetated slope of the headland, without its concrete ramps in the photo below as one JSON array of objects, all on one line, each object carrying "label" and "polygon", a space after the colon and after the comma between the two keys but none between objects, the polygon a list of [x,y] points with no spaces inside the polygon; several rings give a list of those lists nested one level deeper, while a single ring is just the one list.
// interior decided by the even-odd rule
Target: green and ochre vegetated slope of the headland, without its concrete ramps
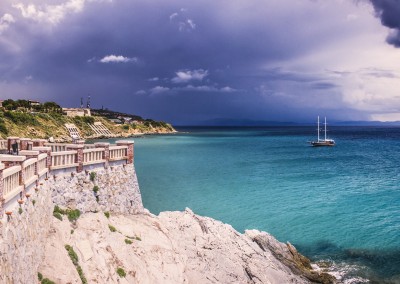
[{"label": "green and ochre vegetated slope of the headland, without its concrete ramps", "polygon": [[[19,101],[13,101],[11,105],[7,104],[8,101],[11,100],[3,101],[3,108],[0,109],[0,136],[2,138],[17,136],[48,139],[53,137],[57,141],[69,141],[66,123],[75,124],[83,138],[96,138],[89,126],[95,122],[101,122],[114,134],[114,137],[175,132],[168,123],[144,120],[138,116],[132,116],[136,118],[135,123],[116,124],[110,121],[110,117],[106,118],[103,114],[96,112],[93,116],[66,116],[62,113],[61,107],[52,102],[40,106],[22,107],[16,104]],[[107,111],[107,113],[110,115],[114,112]]]}]

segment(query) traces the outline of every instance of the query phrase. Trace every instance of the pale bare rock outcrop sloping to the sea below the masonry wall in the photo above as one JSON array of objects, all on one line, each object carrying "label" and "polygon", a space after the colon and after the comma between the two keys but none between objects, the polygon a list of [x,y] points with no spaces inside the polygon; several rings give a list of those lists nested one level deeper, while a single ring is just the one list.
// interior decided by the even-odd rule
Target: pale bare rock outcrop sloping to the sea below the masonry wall
[{"label": "pale bare rock outcrop sloping to the sea below the masonry wall", "polygon": [[299,268],[307,261],[294,247],[264,232],[240,234],[189,209],[110,218],[86,213],[75,225],[54,218],[39,272],[57,283],[80,283],[66,244],[88,283],[310,282]]}]

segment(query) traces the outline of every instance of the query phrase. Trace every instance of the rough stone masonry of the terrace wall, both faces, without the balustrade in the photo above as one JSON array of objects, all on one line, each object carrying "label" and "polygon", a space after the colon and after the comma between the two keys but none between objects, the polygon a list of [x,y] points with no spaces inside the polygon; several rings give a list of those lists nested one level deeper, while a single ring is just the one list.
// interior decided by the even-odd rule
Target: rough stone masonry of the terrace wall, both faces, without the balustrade
[{"label": "rough stone masonry of the terrace wall, both faces, without the balustrade", "polygon": [[[92,172],[96,173],[93,180]],[[99,188],[97,194],[94,186]],[[50,173],[24,203],[0,223],[1,284],[37,283],[44,243],[54,220],[54,205],[79,209],[81,213],[135,214],[144,210],[133,164],[107,168],[101,164],[81,173]]]}]

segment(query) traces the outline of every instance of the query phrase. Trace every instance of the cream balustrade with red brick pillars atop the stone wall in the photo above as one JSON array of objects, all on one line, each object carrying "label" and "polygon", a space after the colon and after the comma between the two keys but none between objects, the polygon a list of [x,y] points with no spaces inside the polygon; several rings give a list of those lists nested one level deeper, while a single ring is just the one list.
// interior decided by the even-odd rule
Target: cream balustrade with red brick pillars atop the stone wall
[{"label": "cream balustrade with red brick pillars atop the stone wall", "polygon": [[[20,199],[30,196],[27,191],[34,184],[38,185],[41,178],[55,173],[54,171],[67,169],[68,172],[79,173],[89,165],[103,163],[108,166],[114,161],[133,163],[133,142],[130,141],[117,141],[116,145],[111,146],[101,142],[62,144],[9,137],[8,141],[0,140],[0,150],[8,153],[10,145],[15,144],[18,144],[20,151],[12,152],[20,155],[0,154],[0,219],[4,208],[10,208],[9,205],[12,207],[16,200],[23,202]],[[23,148],[28,147],[27,145],[30,145],[29,150]]]}]

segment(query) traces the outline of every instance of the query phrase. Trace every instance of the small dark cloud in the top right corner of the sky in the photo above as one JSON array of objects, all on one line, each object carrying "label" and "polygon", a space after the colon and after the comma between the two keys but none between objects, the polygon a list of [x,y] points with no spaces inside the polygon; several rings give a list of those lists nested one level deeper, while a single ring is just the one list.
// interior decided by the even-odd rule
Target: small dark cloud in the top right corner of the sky
[{"label": "small dark cloud in the top right corner of the sky", "polygon": [[398,0],[370,0],[376,15],[384,26],[391,28],[386,41],[400,47],[400,1]]}]

